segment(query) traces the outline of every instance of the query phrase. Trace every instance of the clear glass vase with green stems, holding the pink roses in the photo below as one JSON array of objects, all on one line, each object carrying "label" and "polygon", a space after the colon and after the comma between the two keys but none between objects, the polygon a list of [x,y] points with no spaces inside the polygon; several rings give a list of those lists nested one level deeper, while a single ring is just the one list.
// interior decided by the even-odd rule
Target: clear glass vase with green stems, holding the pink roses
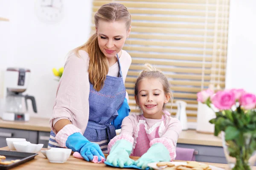
[{"label": "clear glass vase with green stems, holding the pink roses", "polygon": [[[250,149],[252,142],[251,135],[243,135],[243,144],[239,145],[234,141],[225,141],[225,132],[221,132],[222,146],[229,165],[229,170],[252,170],[255,166],[256,151]],[[236,150],[236,154],[230,156],[230,152]]]}]

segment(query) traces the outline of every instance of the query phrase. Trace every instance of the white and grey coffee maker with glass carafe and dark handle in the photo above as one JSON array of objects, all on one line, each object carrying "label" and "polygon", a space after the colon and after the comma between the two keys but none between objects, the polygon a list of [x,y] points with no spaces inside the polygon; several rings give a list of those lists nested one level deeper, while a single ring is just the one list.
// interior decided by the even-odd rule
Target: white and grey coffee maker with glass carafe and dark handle
[{"label": "white and grey coffee maker with glass carafe and dark handle", "polygon": [[2,119],[7,121],[29,121],[27,100],[32,102],[33,111],[37,113],[35,97],[24,95],[30,78],[26,68],[7,68],[5,72],[4,111]]}]

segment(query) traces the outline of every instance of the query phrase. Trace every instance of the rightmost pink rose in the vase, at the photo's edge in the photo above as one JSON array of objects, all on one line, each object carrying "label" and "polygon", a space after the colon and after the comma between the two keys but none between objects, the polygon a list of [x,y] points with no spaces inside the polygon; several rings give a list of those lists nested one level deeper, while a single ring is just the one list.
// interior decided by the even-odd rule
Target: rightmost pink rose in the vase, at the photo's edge
[{"label": "rightmost pink rose in the vase, at the photo's edge", "polygon": [[239,103],[247,110],[253,109],[256,106],[256,96],[250,93],[243,94],[239,99]]}]

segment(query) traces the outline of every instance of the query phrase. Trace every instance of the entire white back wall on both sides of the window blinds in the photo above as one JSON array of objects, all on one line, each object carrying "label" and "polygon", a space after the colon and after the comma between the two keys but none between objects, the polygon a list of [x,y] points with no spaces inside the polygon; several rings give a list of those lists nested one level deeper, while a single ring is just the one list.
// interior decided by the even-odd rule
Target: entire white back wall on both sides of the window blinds
[{"label": "entire white back wall on both sides of the window blinds", "polygon": [[[63,66],[67,52],[89,37],[92,0],[64,0],[64,18],[55,24],[38,20],[34,3],[0,0],[0,16],[10,19],[9,23],[0,22],[0,99],[1,72],[10,66],[30,68],[26,93],[35,96],[38,107],[38,114],[30,107],[31,116],[49,118],[58,84],[52,68]],[[255,6],[254,0],[231,0],[226,75],[227,88],[245,88],[254,94]]]}]

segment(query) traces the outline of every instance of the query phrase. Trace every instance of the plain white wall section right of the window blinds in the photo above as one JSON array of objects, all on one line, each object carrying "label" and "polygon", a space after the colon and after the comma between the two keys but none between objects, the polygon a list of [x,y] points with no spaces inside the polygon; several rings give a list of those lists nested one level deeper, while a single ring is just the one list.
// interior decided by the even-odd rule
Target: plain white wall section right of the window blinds
[{"label": "plain white wall section right of the window blinds", "polygon": [[256,94],[256,1],[231,0],[226,88]]}]

